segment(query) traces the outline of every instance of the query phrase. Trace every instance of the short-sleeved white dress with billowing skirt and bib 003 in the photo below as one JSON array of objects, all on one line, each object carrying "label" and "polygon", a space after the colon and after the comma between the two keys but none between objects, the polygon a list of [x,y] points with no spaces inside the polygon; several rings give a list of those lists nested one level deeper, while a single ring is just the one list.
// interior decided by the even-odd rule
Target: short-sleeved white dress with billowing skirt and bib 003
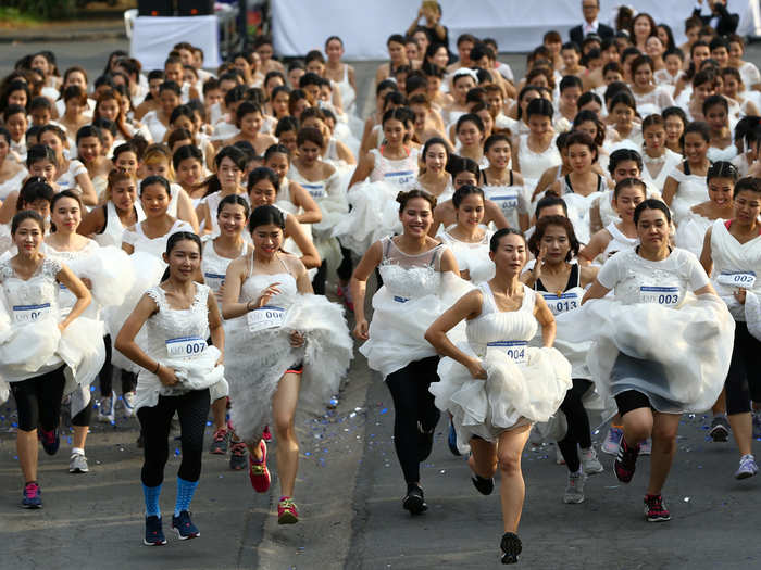
[{"label": "short-sleeved white dress with billowing skirt and bib 003", "polygon": [[592,341],[587,354],[602,397],[627,390],[645,394],[656,410],[704,411],[724,387],[735,324],[713,294],[698,259],[675,249],[660,262],[621,251],[597,277],[613,297],[596,299],[573,318],[558,317],[561,341]]}]

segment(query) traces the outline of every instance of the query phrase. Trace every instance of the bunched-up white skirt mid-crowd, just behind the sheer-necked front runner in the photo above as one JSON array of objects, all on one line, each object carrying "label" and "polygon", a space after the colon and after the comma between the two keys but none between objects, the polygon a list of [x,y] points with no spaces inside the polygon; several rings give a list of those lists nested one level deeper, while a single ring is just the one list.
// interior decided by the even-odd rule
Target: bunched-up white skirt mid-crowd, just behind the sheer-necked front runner
[{"label": "bunched-up white skirt mid-crowd, just behind the sheer-necked front runner", "polygon": [[345,248],[364,255],[380,238],[401,232],[397,194],[399,186],[386,182],[359,182],[347,194],[351,211],[333,228]]}]

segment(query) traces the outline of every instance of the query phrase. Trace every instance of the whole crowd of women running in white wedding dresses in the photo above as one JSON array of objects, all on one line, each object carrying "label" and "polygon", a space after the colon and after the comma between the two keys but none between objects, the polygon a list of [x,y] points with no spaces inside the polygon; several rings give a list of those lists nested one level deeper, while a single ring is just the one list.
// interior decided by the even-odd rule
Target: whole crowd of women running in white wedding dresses
[{"label": "whole crowd of women running in white wedding dresses", "polygon": [[734,477],[758,472],[761,76],[743,39],[690,18],[676,47],[638,14],[581,46],[548,31],[519,80],[491,39],[464,34],[454,58],[424,4],[388,38],[364,124],[337,36],[287,66],[259,38],[214,74],[183,42],[148,73],[114,52],[90,81],[40,52],[2,79],[0,400],[24,507],[41,507],[37,440],[58,452],[62,405],[70,471],[87,472],[93,408],[113,421],[121,401],[140,423],[145,544],[166,542],[175,417],[180,540],[200,534],[210,414],[211,453],[260,493],[274,440],[278,522],[297,522],[294,418],[339,394],[349,313],[394,400],[403,508],[427,508],[444,416],[478,493],[499,470],[504,563],[532,427],[576,504],[610,420],[620,481],[651,454],[649,521],[671,517],[684,413],[712,409]]}]

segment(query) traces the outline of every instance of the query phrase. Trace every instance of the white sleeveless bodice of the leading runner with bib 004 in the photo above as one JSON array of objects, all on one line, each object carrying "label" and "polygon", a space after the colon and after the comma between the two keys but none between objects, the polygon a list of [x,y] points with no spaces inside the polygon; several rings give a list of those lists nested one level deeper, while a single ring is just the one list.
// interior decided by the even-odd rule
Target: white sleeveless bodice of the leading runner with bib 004
[{"label": "white sleeveless bodice of the leading runner with bib 004", "polygon": [[481,315],[467,321],[465,333],[467,342],[478,355],[484,355],[486,345],[499,341],[527,342],[536,335],[537,322],[534,317],[536,292],[523,286],[523,302],[516,311],[499,311],[494,293],[488,283],[481,283],[478,289],[484,295]]}]

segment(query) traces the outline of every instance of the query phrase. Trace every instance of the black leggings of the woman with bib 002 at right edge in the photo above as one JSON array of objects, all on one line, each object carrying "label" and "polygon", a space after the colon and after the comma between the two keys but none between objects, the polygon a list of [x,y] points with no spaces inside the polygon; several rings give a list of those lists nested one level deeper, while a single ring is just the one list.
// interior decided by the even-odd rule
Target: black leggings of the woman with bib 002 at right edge
[{"label": "black leggings of the woman with bib 002 at right edge", "polygon": [[735,322],[735,346],[726,375],[726,413],[747,414],[750,401],[761,403],[761,342],[750,332],[748,325]]}]

